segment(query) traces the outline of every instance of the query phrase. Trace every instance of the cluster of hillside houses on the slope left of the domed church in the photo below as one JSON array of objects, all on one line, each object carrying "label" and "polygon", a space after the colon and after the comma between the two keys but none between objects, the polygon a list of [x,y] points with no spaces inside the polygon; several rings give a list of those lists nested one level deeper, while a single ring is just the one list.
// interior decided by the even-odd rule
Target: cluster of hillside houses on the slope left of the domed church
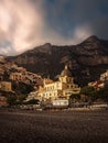
[{"label": "cluster of hillside houses on the slope left of the domed church", "polygon": [[[7,62],[3,56],[0,56],[0,106],[7,105],[9,95],[19,96],[19,86],[21,88],[32,87],[32,90],[37,90],[39,85],[43,84],[42,77],[37,74],[30,73],[17,64]],[[17,90],[14,88],[18,88]],[[28,89],[23,90],[28,90]],[[19,90],[19,91],[18,91]],[[21,94],[21,92],[20,92]]]}]

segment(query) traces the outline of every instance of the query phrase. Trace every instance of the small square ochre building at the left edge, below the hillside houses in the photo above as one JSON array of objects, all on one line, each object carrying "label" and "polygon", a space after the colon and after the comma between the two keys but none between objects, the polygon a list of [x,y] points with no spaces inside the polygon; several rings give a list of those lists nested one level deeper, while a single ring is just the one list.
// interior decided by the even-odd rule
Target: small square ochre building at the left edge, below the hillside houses
[{"label": "small square ochre building at the left edge, below the hillside houses", "polygon": [[2,91],[12,91],[12,85],[10,81],[1,81],[0,82],[0,90]]}]

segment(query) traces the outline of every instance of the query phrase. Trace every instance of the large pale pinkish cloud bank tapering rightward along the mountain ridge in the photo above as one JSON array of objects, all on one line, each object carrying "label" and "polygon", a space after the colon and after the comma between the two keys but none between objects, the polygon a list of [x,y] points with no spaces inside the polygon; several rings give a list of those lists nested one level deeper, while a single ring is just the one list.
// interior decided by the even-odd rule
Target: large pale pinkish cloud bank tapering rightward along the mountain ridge
[{"label": "large pale pinkish cloud bank tapering rightward along the mountain ridge", "polygon": [[43,0],[0,1],[1,54],[19,54],[45,42],[73,43],[48,25],[42,4]]}]

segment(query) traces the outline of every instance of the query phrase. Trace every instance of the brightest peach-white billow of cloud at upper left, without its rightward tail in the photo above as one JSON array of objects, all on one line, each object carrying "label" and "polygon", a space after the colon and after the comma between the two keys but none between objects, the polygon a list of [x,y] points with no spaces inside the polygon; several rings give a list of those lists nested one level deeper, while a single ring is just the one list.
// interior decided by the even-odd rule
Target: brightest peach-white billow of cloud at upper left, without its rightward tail
[{"label": "brightest peach-white billow of cloud at upper left, without its rightward tail", "polygon": [[[42,34],[44,24],[42,12],[41,0],[36,1],[35,7],[30,0],[1,0],[0,43],[9,41],[17,53],[32,46],[37,42],[36,37]],[[6,48],[9,54],[13,54],[9,50],[9,45],[2,48]]]}]

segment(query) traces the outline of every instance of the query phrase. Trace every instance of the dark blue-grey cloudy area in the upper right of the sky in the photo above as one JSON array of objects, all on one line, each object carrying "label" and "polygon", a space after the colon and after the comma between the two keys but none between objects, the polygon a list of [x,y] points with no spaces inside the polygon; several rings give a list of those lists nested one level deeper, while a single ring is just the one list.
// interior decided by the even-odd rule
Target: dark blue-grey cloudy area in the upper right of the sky
[{"label": "dark blue-grey cloudy area in the upper right of the sky", "polygon": [[[107,0],[46,0],[50,3],[47,8],[48,24],[55,31],[66,36],[74,36],[75,29],[88,25],[91,33],[101,33],[101,29],[97,29],[95,23],[102,22],[102,16],[108,16],[108,1]],[[97,22],[96,22],[97,21]],[[105,20],[104,20],[105,21]],[[108,23],[107,23],[108,24]],[[104,29],[107,29],[107,24]],[[97,29],[97,32],[96,32]],[[106,30],[105,30],[106,31]],[[72,33],[72,34],[71,34]],[[104,36],[107,35],[102,33]],[[102,35],[101,35],[102,36]]]}]

